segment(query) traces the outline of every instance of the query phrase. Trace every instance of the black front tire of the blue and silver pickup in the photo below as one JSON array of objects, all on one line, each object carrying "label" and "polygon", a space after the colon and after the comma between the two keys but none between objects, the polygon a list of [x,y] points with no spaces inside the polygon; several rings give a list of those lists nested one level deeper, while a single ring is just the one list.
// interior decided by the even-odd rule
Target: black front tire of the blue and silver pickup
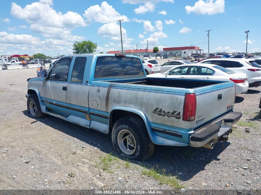
[{"label": "black front tire of the blue and silver pickup", "polygon": [[[30,104],[32,104],[35,109],[33,109],[34,111],[32,111],[32,109],[30,109]],[[46,116],[45,113],[43,113],[41,111],[41,107],[39,104],[39,100],[36,94],[31,94],[29,95],[28,99],[27,99],[27,111],[29,116],[33,117],[33,118],[43,118]],[[35,113],[33,113],[35,112]]]}]

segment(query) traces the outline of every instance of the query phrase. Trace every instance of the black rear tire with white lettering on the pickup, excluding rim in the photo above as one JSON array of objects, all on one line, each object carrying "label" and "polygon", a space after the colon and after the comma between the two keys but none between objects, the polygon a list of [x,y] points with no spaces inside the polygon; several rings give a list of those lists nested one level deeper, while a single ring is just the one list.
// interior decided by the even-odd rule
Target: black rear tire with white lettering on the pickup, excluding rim
[{"label": "black rear tire with white lettering on the pickup, excluding rim", "polygon": [[[136,149],[133,149],[132,154],[126,154],[120,149],[118,136],[120,136],[119,133],[122,134],[124,131],[130,132],[134,137]],[[121,156],[133,160],[146,160],[150,158],[154,152],[154,143],[149,138],[144,121],[133,116],[121,118],[114,124],[112,128],[112,145]],[[126,144],[124,144],[124,146],[126,147]]]}]

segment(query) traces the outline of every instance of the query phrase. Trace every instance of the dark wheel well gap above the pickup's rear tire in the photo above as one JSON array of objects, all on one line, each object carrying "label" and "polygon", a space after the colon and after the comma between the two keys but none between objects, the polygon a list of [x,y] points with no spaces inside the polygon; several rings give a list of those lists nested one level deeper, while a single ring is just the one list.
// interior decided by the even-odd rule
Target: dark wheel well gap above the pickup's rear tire
[{"label": "dark wheel well gap above the pickup's rear tire", "polygon": [[143,121],[143,118],[140,115],[138,115],[137,113],[126,111],[126,110],[113,110],[111,112],[110,118],[109,118],[109,121],[110,121],[109,130],[112,131],[112,128],[113,128],[114,124],[117,122],[117,120],[124,118],[126,116],[136,116],[136,117],[139,117]]}]

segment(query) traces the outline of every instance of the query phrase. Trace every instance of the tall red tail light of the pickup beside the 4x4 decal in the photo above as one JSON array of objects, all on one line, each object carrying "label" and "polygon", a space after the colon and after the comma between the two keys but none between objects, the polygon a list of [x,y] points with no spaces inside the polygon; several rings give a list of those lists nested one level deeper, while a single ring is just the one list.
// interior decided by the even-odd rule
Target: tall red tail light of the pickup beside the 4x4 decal
[{"label": "tall red tail light of the pickup beside the 4x4 decal", "polygon": [[194,121],[196,117],[196,93],[186,93],[183,105],[183,117],[184,121]]}]

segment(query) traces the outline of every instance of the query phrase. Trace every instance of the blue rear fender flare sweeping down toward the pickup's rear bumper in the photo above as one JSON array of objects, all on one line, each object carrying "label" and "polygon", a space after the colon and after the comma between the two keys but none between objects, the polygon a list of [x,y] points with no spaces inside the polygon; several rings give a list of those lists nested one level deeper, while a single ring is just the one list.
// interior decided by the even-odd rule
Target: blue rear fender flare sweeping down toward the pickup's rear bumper
[{"label": "blue rear fender flare sweeping down toward the pickup's rear bumper", "polygon": [[158,144],[158,145],[171,145],[171,146],[187,146],[188,144],[186,143],[182,143],[182,142],[179,142],[179,141],[174,141],[174,140],[169,140],[169,139],[166,139],[164,137],[160,137],[160,136],[157,136],[151,129],[151,126],[150,126],[150,123],[149,123],[149,120],[147,118],[147,116],[141,112],[140,110],[137,110],[137,109],[134,109],[134,108],[128,108],[128,107],[122,107],[122,106],[115,106],[112,108],[111,112],[110,112],[110,115],[109,115],[109,127],[110,127],[110,118],[111,118],[111,113],[113,110],[124,110],[124,111],[128,111],[128,112],[133,112],[137,115],[139,115],[144,123],[145,123],[145,126],[147,128],[147,131],[148,131],[148,134],[149,134],[149,138],[150,140],[154,143],[154,144]]}]

